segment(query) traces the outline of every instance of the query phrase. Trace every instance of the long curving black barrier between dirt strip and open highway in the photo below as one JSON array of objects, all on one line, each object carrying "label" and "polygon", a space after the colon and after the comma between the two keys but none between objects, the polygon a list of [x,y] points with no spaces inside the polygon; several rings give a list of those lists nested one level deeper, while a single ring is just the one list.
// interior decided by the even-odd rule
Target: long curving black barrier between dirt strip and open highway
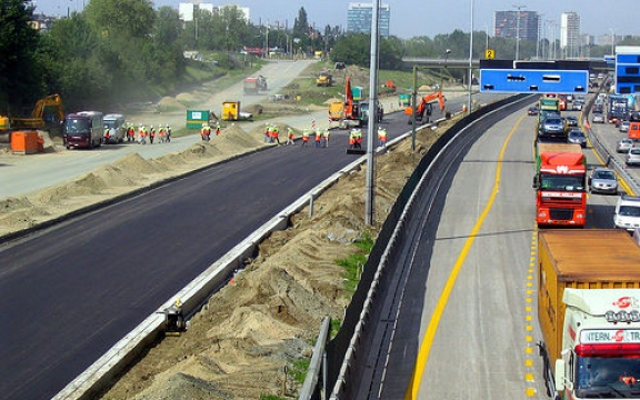
[{"label": "long curving black barrier between dirt strip and open highway", "polygon": [[[380,317],[381,300],[383,300],[387,294],[388,283],[392,277],[398,273],[394,267],[397,266],[396,261],[400,257],[399,249],[402,248],[401,244],[407,240],[412,240],[411,237],[406,237],[407,231],[401,229],[401,219],[404,221],[411,219],[411,209],[416,201],[410,203],[410,200],[416,197],[417,189],[422,193],[429,191],[429,188],[424,186],[418,188],[429,166],[433,162],[437,154],[442,151],[444,146],[463,128],[477,120],[482,120],[488,113],[510,104],[511,107],[506,107],[503,112],[494,113],[486,118],[474,129],[477,132],[478,130],[483,132],[490,126],[502,119],[504,114],[512,112],[517,108],[521,108],[523,103],[531,100],[532,98],[529,94],[518,94],[480,108],[449,128],[448,131],[431,146],[427,154],[419,162],[380,230],[376,244],[364,264],[360,283],[346,310],[342,327],[336,338],[327,346],[327,377],[324,381],[327,382],[326,388],[333,388],[332,399],[356,398],[357,393],[354,390],[358,389],[358,386],[352,383],[359,382],[364,373],[367,366],[363,361],[369,353],[369,346],[374,332],[373,327],[369,326],[369,323],[377,321],[378,317]],[[481,134],[481,132],[479,134]],[[418,193],[418,196],[420,196],[420,193]],[[321,382],[322,380],[318,381]],[[317,390],[314,392],[319,393],[320,391]]]}]

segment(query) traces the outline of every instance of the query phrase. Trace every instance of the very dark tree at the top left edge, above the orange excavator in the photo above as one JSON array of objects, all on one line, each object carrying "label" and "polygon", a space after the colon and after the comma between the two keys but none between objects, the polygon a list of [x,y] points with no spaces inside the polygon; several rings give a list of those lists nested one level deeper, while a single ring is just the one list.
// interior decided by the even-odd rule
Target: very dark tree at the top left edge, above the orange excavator
[{"label": "very dark tree at the top left edge, above the orange excavator", "polygon": [[28,0],[0,0],[0,107],[17,111],[33,104],[43,90],[36,52],[38,32],[29,21],[33,6]]}]

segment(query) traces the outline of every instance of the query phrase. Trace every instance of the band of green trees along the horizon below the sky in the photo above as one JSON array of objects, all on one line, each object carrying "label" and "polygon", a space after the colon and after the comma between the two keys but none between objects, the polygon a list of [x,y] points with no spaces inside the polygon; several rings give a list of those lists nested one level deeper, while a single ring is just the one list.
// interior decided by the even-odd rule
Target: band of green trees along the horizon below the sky
[{"label": "band of green trees along the horizon below the sky", "polygon": [[[243,46],[298,54],[323,50],[332,61],[360,67],[370,62],[369,34],[344,33],[338,26],[320,31],[309,23],[304,8],[289,28],[252,24],[234,6],[219,12],[196,10],[193,20],[183,22],[176,9],[154,10],[151,0],[91,0],[82,12],[56,20],[47,31],[30,24],[33,11],[30,0],[0,0],[0,114],[16,114],[50,93],[61,94],[69,110],[148,101],[190,82],[188,69],[213,77],[243,68]],[[464,59],[469,39],[461,30],[432,39],[382,38],[379,68],[410,68],[402,63],[404,56]],[[513,57],[513,39],[474,32],[473,58],[482,58],[488,43],[498,58]],[[552,44],[521,41],[520,56],[533,58],[540,47]],[[189,60],[187,50],[214,53],[216,64]],[[597,57],[609,47],[589,50]]]}]

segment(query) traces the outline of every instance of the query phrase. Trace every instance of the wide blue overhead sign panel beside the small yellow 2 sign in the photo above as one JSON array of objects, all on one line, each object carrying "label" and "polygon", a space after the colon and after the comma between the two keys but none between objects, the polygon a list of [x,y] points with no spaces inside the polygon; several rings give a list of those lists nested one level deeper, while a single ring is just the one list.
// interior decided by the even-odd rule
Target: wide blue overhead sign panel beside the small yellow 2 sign
[{"label": "wide blue overhead sign panel beside the small yellow 2 sign", "polygon": [[481,92],[587,93],[588,70],[480,69]]}]

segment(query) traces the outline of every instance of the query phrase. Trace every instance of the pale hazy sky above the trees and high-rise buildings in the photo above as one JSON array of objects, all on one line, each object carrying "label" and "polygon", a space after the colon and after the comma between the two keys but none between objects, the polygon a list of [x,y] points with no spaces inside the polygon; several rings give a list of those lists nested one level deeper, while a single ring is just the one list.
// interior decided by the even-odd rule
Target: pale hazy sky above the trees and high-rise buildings
[{"label": "pale hazy sky above the trees and high-rise buildings", "polygon": [[[81,11],[90,0],[34,0],[37,12],[64,16],[67,10]],[[178,3],[186,0],[154,0],[153,4],[171,6],[178,9]],[[236,3],[250,9],[251,21],[293,26],[301,7],[307,11],[310,23],[316,23],[320,30],[327,24],[347,28],[347,9],[350,1],[343,0],[203,0],[214,6]],[[362,1],[371,2],[371,1]],[[562,12],[577,12],[580,16],[580,30],[592,36],[633,34],[640,36],[638,23],[638,0],[387,0],[391,9],[390,33],[403,39],[428,36],[433,38],[439,33],[451,33],[454,29],[469,32],[471,28],[471,6],[473,6],[473,30],[491,30],[494,11],[516,10],[517,7],[527,11],[537,11],[544,21],[560,23]],[[548,30],[551,34],[551,28]],[[559,36],[559,30],[558,33]]]}]

